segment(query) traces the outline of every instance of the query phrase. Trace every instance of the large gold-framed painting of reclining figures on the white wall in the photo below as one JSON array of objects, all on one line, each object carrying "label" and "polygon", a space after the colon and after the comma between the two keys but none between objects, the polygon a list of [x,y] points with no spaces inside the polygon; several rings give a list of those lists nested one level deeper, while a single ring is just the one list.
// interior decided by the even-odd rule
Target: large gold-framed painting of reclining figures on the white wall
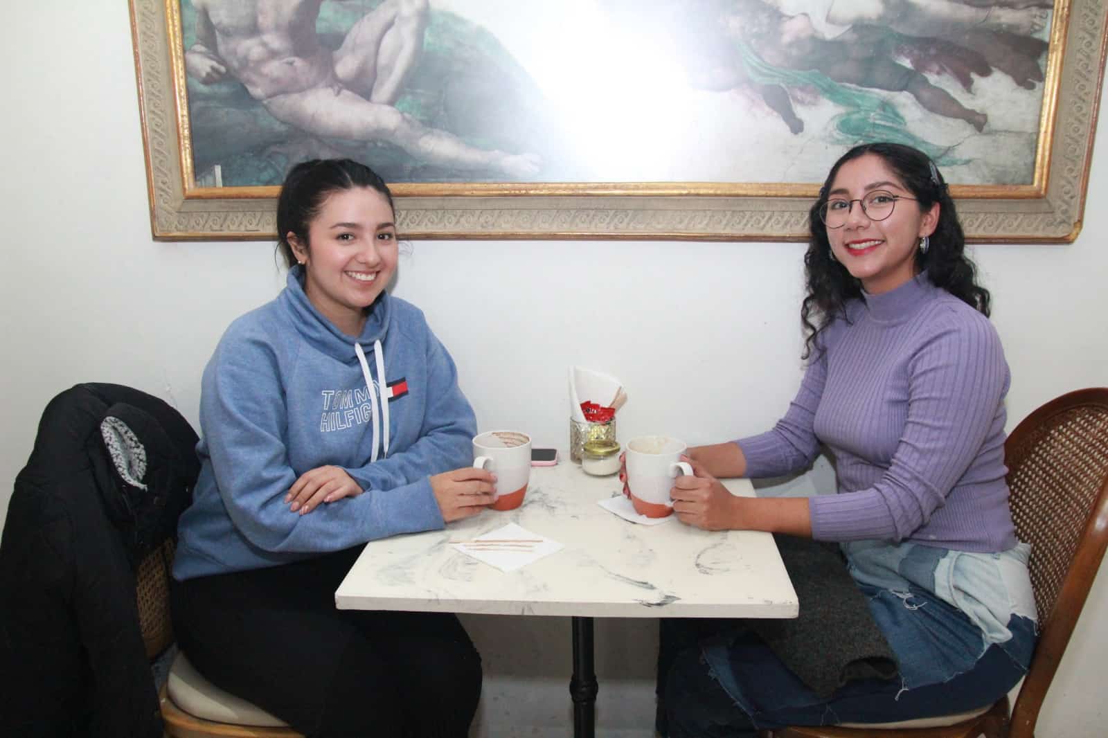
[{"label": "large gold-framed painting of reclining figures on the white wall", "polygon": [[975,242],[1081,227],[1108,0],[131,0],[160,240],[275,238],[349,156],[410,238],[802,240],[834,160],[926,152]]}]

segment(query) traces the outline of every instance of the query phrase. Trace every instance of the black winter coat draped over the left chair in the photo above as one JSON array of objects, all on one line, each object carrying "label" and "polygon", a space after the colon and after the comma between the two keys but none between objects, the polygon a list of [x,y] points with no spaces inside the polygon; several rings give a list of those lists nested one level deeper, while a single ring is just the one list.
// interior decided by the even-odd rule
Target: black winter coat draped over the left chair
[{"label": "black winter coat draped over the left chair", "polygon": [[162,736],[134,570],[176,536],[196,441],[120,385],[47,406],[0,541],[0,736]]}]

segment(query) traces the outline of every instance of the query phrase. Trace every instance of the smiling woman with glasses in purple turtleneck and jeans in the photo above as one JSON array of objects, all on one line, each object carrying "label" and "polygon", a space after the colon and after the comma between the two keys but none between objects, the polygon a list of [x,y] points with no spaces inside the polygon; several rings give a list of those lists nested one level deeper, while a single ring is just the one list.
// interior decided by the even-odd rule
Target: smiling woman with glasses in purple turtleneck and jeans
[{"label": "smiling woman with glasses in purple turtleneck and jeans", "polygon": [[[986,707],[1034,648],[1029,547],[1005,483],[1008,367],[946,184],[914,148],[856,146],[810,224],[800,391],[769,432],[690,449],[674,511],[839,543],[897,674],[817,694],[749,629],[663,621],[658,727],[674,738]],[[717,480],[799,471],[821,445],[838,494],[736,498]]]}]

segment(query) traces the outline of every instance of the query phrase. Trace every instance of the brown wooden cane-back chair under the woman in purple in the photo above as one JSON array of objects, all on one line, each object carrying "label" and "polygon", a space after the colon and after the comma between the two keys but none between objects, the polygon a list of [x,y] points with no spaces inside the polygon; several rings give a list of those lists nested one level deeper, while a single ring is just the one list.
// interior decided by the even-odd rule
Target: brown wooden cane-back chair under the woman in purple
[{"label": "brown wooden cane-back chair under the woman in purple", "polygon": [[1004,447],[1012,517],[1032,544],[1039,640],[1008,717],[1007,697],[979,715],[888,726],[791,727],[776,738],[1032,738],[1043,698],[1108,545],[1108,388],[1084,389],[1029,414]]}]

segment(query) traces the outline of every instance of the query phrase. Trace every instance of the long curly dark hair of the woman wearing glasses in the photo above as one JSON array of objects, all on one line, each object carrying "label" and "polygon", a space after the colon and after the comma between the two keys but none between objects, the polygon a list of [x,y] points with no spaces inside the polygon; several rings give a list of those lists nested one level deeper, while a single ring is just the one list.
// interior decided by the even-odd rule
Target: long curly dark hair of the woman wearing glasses
[{"label": "long curly dark hair of the woman wearing glasses", "polygon": [[837,316],[845,316],[847,303],[862,296],[861,283],[852,277],[847,267],[831,256],[831,243],[827,227],[820,218],[820,208],[828,201],[828,191],[834,182],[839,168],[847,162],[875,154],[891,168],[901,183],[916,198],[921,211],[927,211],[938,203],[940,215],[935,232],[930,237],[930,248],[916,250],[915,266],[926,270],[927,279],[962,301],[988,315],[988,290],[976,281],[977,270],[965,255],[965,234],[958,223],[957,211],[951,198],[942,174],[931,158],[911,146],[895,143],[869,143],[854,146],[843,154],[820,187],[820,196],[808,212],[808,252],[804,254],[804,275],[808,295],[800,307],[800,321],[804,326],[804,352],[802,358],[812,356],[817,349],[815,339]]}]

